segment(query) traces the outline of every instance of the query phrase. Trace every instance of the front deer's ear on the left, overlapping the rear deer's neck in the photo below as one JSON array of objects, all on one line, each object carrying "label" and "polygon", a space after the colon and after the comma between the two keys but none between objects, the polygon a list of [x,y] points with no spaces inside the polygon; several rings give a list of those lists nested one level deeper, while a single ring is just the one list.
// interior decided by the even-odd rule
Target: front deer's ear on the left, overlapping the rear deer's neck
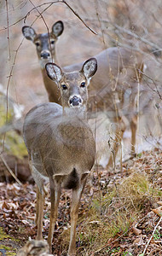
[{"label": "front deer's ear on the left, overlapping the rear deer's neck", "polygon": [[57,66],[55,63],[47,63],[45,65],[46,72],[49,76],[49,79],[56,81],[57,83],[60,82],[62,77],[62,70],[61,67]]}]

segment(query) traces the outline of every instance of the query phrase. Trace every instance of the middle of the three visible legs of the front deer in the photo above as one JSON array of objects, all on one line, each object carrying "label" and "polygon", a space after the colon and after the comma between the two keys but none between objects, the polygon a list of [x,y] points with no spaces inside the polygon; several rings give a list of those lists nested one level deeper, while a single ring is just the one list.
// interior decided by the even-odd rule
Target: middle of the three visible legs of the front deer
[{"label": "middle of the three visible legs of the front deer", "polygon": [[50,209],[50,224],[49,224],[49,236],[48,236],[48,243],[49,243],[49,250],[50,253],[52,252],[52,239],[53,233],[55,229],[55,221],[58,215],[58,206],[61,197],[61,184],[57,183],[53,180],[53,178],[49,178],[50,184],[50,202],[51,202],[51,209]]}]

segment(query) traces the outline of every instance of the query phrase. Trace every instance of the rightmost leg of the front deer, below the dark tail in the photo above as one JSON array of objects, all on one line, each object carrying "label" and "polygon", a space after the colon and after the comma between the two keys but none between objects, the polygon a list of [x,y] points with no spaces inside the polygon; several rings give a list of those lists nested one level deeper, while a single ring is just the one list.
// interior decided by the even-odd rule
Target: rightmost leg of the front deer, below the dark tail
[{"label": "rightmost leg of the front deer, below the dark tail", "polygon": [[77,227],[77,220],[78,220],[78,207],[79,207],[82,193],[84,191],[84,186],[87,181],[87,177],[88,177],[88,173],[84,173],[78,188],[72,189],[71,234],[70,234],[70,244],[69,244],[67,256],[76,255],[76,227]]}]

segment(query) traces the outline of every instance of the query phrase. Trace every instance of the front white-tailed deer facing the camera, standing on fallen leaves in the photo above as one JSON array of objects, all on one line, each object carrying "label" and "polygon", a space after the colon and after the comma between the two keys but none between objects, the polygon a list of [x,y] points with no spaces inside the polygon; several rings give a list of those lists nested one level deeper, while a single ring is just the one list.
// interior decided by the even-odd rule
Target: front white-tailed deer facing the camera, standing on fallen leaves
[{"label": "front white-tailed deer facing the camera, standing on fallen leaves", "polygon": [[95,161],[95,140],[86,120],[88,84],[97,62],[91,58],[79,72],[63,73],[53,63],[46,64],[49,78],[58,84],[62,107],[43,103],[26,114],[23,137],[29,154],[32,176],[37,183],[37,239],[42,239],[43,179],[49,178],[50,224],[48,242],[51,248],[61,188],[72,189],[71,236],[68,255],[76,255],[78,205],[87,177]]}]

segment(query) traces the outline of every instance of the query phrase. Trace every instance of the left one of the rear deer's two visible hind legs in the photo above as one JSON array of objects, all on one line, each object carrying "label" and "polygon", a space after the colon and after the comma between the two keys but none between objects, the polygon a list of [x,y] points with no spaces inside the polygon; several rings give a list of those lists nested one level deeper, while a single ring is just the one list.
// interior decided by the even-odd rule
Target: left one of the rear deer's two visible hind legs
[{"label": "left one of the rear deer's two visible hind legs", "polygon": [[110,146],[112,154],[108,160],[107,168],[113,166],[113,164],[115,165],[116,155],[118,153],[119,147],[121,146],[121,141],[123,139],[124,131],[126,129],[125,123],[126,122],[124,121],[124,117],[119,118],[119,122],[117,124],[117,128],[115,131],[115,139],[113,141],[113,146]]}]

